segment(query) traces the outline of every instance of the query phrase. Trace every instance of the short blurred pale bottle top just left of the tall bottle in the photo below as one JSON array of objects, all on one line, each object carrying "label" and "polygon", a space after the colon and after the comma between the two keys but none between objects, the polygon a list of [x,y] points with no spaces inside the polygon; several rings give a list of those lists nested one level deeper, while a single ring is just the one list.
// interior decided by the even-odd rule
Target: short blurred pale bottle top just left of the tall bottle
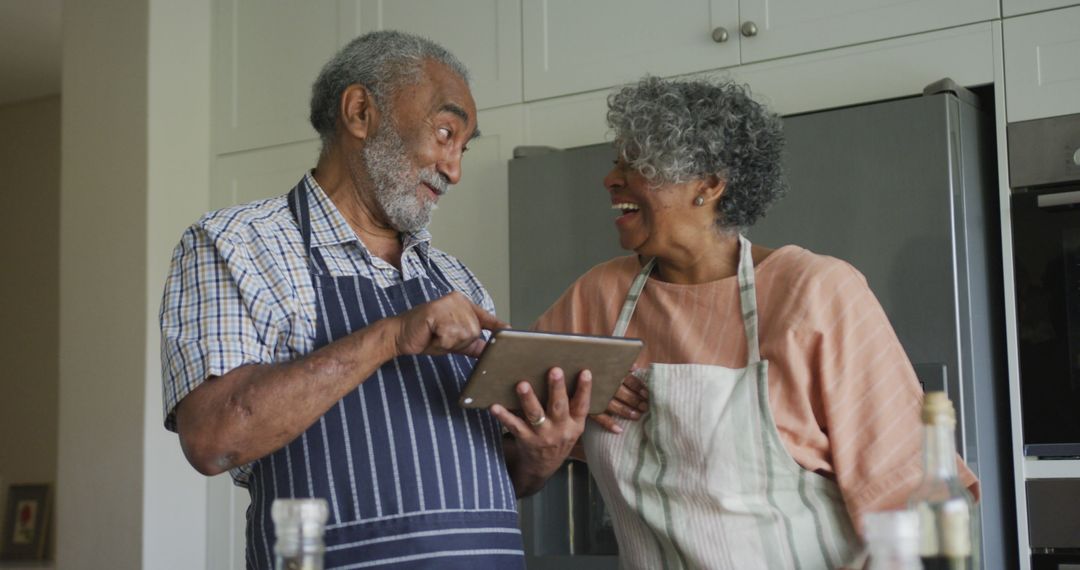
[{"label": "short blurred pale bottle top just left of the tall bottle", "polygon": [[919,515],[915,511],[867,513],[863,516],[863,538],[869,555],[865,570],[922,570]]}]

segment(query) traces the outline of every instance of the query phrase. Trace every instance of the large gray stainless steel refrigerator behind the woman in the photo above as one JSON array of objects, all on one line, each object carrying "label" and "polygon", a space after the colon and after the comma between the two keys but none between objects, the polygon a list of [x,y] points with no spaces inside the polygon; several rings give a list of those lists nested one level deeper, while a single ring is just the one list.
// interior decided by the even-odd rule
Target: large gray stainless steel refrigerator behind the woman
[{"label": "large gray stainless steel refrigerator behind the woman", "polygon": [[[991,98],[990,103],[993,101]],[[983,566],[1016,566],[994,125],[963,89],[784,118],[789,191],[750,232],[845,259],[889,315],[927,390],[957,406],[978,476]],[[530,324],[619,249],[602,179],[608,145],[521,148],[510,163],[511,311]],[[612,291],[621,296],[624,291]],[[610,521],[582,464],[525,501],[532,570],[616,568]]]}]

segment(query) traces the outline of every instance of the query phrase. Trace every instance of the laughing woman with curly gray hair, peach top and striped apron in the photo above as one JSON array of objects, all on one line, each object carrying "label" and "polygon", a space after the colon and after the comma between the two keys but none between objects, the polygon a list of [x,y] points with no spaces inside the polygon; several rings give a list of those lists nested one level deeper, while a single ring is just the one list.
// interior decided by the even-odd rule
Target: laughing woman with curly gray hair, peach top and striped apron
[{"label": "laughing woman with curly gray hair, peach top and striped apron", "polygon": [[885,312],[850,264],[743,236],[784,191],[780,119],[743,86],[648,78],[608,106],[634,255],[536,326],[646,342],[584,435],[623,567],[846,564],[860,516],[921,477],[922,394]]}]

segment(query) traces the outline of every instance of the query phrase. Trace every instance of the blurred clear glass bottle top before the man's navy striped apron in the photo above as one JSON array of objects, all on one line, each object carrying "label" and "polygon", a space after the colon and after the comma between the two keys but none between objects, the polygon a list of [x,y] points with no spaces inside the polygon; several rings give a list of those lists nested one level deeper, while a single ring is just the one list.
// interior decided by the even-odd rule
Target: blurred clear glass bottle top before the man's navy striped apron
[{"label": "blurred clear glass bottle top before the man's navy striped apron", "polygon": [[275,499],[273,517],[274,570],[323,570],[328,508],[325,499]]}]

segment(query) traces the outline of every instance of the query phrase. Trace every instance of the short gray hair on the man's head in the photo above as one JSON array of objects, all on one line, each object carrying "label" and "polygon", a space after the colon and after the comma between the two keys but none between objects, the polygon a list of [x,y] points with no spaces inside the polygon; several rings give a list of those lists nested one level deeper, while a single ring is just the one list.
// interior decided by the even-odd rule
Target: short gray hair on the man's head
[{"label": "short gray hair on the man's head", "polygon": [[379,110],[390,112],[393,95],[420,81],[428,59],[445,65],[469,82],[469,71],[460,59],[442,45],[411,33],[373,31],[342,48],[311,86],[311,126],[323,139],[323,149],[334,142],[339,99],[349,85],[364,85]]}]

